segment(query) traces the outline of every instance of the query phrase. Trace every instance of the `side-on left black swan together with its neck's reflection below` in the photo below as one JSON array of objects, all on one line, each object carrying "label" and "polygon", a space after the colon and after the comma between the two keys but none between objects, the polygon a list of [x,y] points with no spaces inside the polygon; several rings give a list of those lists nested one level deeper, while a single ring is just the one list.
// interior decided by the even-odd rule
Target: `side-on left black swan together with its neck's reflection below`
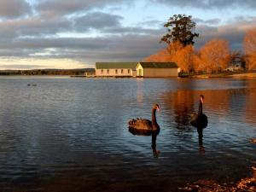
[{"label": "side-on left black swan together with its neck's reflection below", "polygon": [[128,122],[129,131],[137,136],[152,136],[152,150],[155,157],[158,157],[160,151],[156,149],[156,137],[160,133],[160,125],[157,124],[155,112],[160,112],[160,106],[154,104],[152,108],[152,120],[148,119],[131,119]]}]

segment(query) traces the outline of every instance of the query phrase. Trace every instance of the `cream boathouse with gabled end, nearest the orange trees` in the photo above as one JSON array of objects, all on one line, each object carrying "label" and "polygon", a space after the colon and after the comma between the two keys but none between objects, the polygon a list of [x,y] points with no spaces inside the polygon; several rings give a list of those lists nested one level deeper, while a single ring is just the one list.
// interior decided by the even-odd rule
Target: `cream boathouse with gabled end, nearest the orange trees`
[{"label": "cream boathouse with gabled end, nearest the orange trees", "polygon": [[172,78],[177,77],[179,68],[175,62],[138,62],[137,77]]}]

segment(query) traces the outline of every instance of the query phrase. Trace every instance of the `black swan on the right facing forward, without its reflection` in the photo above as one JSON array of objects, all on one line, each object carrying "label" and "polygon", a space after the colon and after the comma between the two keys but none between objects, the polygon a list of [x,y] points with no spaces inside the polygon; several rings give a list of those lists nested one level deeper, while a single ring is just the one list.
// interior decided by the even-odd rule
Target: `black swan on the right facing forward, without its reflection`
[{"label": "black swan on the right facing forward, without its reflection", "polygon": [[190,119],[190,124],[195,126],[198,129],[206,128],[208,125],[207,115],[202,113],[203,102],[204,102],[204,96],[201,95],[200,101],[199,101],[198,113],[192,113],[191,119]]}]

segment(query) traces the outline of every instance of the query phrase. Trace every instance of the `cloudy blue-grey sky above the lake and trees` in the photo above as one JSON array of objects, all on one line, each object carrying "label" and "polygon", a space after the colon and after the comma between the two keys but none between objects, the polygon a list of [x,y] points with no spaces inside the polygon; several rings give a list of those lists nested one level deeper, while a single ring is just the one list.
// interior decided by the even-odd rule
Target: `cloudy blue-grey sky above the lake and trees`
[{"label": "cloudy blue-grey sky above the lake and trees", "polygon": [[0,69],[94,67],[141,61],[165,44],[174,14],[192,15],[198,48],[224,38],[241,49],[255,0],[0,0]]}]

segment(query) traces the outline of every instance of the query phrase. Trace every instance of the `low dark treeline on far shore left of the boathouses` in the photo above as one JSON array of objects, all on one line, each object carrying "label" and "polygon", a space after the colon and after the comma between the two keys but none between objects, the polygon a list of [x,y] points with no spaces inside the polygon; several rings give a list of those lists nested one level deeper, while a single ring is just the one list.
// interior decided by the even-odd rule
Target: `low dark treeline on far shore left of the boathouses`
[{"label": "low dark treeline on far shore left of the boathouses", "polygon": [[79,68],[79,69],[0,70],[0,75],[84,75],[84,73],[95,73],[95,69]]}]

